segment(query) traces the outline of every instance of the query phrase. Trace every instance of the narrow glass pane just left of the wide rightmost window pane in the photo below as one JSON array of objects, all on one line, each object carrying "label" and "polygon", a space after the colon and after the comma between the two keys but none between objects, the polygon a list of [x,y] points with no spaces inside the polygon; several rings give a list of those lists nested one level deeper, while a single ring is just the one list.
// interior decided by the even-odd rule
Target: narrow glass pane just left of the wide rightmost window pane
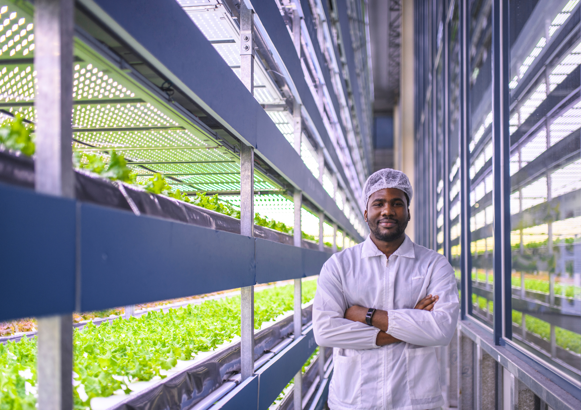
[{"label": "narrow glass pane just left of the wide rightmost window pane", "polygon": [[[469,229],[472,315],[492,327],[492,9],[474,2],[469,10],[468,67]],[[452,188],[452,187],[451,187]]]}]

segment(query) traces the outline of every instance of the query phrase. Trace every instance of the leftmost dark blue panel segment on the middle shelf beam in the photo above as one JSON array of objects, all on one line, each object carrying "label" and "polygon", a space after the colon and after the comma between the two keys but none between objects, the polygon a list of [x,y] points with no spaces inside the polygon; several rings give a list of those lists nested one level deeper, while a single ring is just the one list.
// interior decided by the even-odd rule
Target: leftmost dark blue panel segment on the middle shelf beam
[{"label": "leftmost dark blue panel segment on the middle shelf beam", "polygon": [[0,184],[0,321],[74,310],[75,213],[73,199]]}]

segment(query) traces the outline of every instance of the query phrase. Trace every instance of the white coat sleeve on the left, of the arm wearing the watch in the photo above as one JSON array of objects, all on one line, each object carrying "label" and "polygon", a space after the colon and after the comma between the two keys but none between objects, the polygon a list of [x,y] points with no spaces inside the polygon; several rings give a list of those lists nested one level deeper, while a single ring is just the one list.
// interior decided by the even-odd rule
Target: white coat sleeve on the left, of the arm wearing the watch
[{"label": "white coat sleeve on the left, of the arm wearing the watch", "polygon": [[379,329],[345,319],[347,301],[340,280],[340,264],[333,256],[322,267],[313,302],[313,331],[319,346],[374,349]]}]

